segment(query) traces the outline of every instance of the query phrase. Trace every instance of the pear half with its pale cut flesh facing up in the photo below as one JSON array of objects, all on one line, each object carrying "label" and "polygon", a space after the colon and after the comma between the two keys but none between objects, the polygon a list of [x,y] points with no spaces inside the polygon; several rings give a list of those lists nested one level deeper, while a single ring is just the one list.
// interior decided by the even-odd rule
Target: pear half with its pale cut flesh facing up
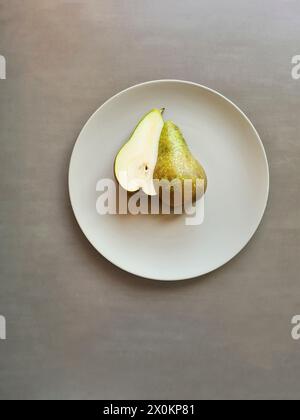
[{"label": "pear half with its pale cut flesh facing up", "polygon": [[164,109],[153,109],[148,112],[116,156],[115,176],[126,191],[142,189],[145,194],[156,195],[153,172],[164,126],[163,111]]}]

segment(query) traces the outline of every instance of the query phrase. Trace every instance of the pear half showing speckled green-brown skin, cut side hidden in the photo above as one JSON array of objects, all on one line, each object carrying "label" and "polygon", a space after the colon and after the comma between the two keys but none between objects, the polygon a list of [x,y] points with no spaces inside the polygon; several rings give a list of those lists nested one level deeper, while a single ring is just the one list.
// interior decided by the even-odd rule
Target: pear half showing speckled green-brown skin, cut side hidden
[{"label": "pear half showing speckled green-brown skin, cut side hidden", "polygon": [[[207,176],[204,168],[194,158],[180,129],[172,121],[166,121],[162,129],[153,177],[159,182],[167,180],[175,182],[175,185],[176,182],[179,183],[183,194],[180,203],[178,203],[176,200],[174,201],[174,188],[171,188],[169,194],[171,207],[182,205],[185,202],[185,180],[191,180],[190,195],[192,195],[193,202],[199,199],[207,189]],[[202,182],[197,183],[197,180]],[[199,184],[201,185],[200,189]]]}]

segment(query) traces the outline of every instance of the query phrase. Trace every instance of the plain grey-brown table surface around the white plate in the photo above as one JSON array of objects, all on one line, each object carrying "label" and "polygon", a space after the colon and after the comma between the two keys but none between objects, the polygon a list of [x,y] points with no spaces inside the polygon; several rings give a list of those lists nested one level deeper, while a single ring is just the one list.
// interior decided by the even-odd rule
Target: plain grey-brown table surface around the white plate
[{"label": "plain grey-brown table surface around the white plate", "polygon": [[[299,397],[299,17],[296,0],[0,0],[0,398]],[[271,175],[246,249],[178,283],[101,257],[67,189],[89,115],[162,78],[236,102]]]}]

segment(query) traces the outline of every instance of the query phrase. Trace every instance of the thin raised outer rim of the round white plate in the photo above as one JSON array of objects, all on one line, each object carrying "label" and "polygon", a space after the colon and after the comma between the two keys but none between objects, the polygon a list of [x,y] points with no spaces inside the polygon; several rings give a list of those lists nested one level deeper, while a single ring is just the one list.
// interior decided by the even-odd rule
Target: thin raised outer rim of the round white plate
[{"label": "thin raised outer rim of the round white plate", "polygon": [[[219,96],[220,98],[222,98],[223,100],[225,100],[226,102],[228,102],[231,106],[233,106],[240,114],[241,116],[247,121],[247,123],[250,125],[250,127],[252,128],[257,140],[258,140],[258,144],[260,146],[260,149],[263,153],[263,157],[265,160],[265,166],[266,166],[266,175],[267,175],[267,188],[266,188],[266,192],[265,192],[265,204],[263,206],[259,221],[257,226],[255,227],[254,231],[252,232],[252,234],[250,235],[249,239],[247,240],[247,242],[244,244],[244,246],[239,249],[239,251],[237,251],[232,257],[228,258],[225,262],[223,262],[222,264],[217,265],[216,267],[204,272],[204,273],[200,273],[200,274],[195,274],[195,275],[189,275],[189,276],[178,276],[178,277],[168,277],[168,276],[160,276],[160,277],[156,277],[156,276],[147,276],[147,275],[143,275],[141,273],[138,273],[128,267],[125,267],[124,265],[119,264],[117,261],[115,261],[113,258],[109,257],[106,255],[105,252],[102,252],[102,250],[100,250],[99,246],[96,246],[96,244],[94,243],[94,241],[90,240],[86,233],[84,232],[80,221],[78,220],[78,217],[76,215],[76,211],[73,205],[73,201],[72,201],[72,194],[71,194],[71,166],[72,166],[72,161],[74,158],[74,151],[76,148],[76,144],[80,138],[80,136],[82,135],[82,133],[84,132],[85,128],[87,127],[87,125],[90,123],[90,121],[95,117],[95,115],[101,111],[101,109],[106,106],[108,103],[110,103],[111,101],[113,101],[114,99],[116,99],[118,96],[121,96],[123,94],[125,94],[126,92],[130,91],[130,90],[134,90],[137,88],[140,88],[142,86],[146,86],[146,85],[151,85],[151,84],[159,84],[159,83],[179,83],[179,84],[186,84],[186,85],[190,85],[190,86],[195,86],[201,89],[204,89],[208,92],[211,92],[217,96]],[[80,130],[78,136],[76,137],[75,143],[72,147],[72,151],[71,151],[71,158],[70,158],[70,162],[69,162],[69,168],[68,168],[68,192],[69,192],[69,199],[70,199],[70,203],[71,203],[71,207],[73,210],[73,214],[75,216],[75,219],[80,227],[80,230],[82,231],[82,233],[84,234],[85,238],[88,240],[88,242],[96,249],[96,251],[101,254],[101,256],[103,256],[107,261],[109,261],[111,264],[113,264],[114,266],[118,267],[119,269],[129,273],[129,274],[133,274],[137,277],[140,278],[144,278],[144,279],[149,279],[149,280],[155,280],[155,281],[167,281],[167,282],[175,282],[175,281],[184,281],[184,280],[190,280],[190,279],[196,279],[198,277],[202,277],[205,275],[208,275],[209,273],[212,273],[216,270],[218,270],[220,267],[223,267],[224,265],[228,264],[231,260],[233,260],[235,257],[237,257],[242,251],[243,249],[246,248],[246,246],[249,244],[249,242],[251,241],[251,239],[253,238],[253,236],[255,235],[255,233],[257,232],[259,226],[261,225],[262,219],[264,217],[264,214],[266,212],[267,206],[268,206],[268,201],[269,201],[269,193],[270,193],[270,168],[269,168],[269,162],[268,162],[268,157],[263,145],[263,142],[260,138],[260,135],[258,133],[258,131],[256,130],[254,124],[251,122],[251,120],[249,119],[249,117],[244,113],[244,111],[238,106],[236,105],[233,101],[231,101],[229,98],[227,98],[225,95],[223,95],[222,93],[218,92],[215,89],[212,89],[208,86],[202,85],[200,83],[197,82],[192,82],[192,81],[188,81],[188,80],[181,80],[181,79],[157,79],[157,80],[149,80],[146,82],[142,82],[142,83],[138,83],[135,84],[133,86],[130,86],[128,88],[125,88],[123,90],[121,90],[120,92],[114,94],[113,96],[111,96],[110,98],[108,98],[106,101],[104,101],[92,114],[91,116],[88,118],[88,120],[86,121],[86,123],[83,125],[82,129]]]}]

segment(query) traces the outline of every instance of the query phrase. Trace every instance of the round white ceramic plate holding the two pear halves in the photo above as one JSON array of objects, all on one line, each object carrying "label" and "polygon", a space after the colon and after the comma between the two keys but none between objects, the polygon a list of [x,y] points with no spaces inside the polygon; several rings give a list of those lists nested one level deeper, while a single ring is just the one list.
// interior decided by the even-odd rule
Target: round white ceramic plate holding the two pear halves
[{"label": "round white ceramic plate holding the two pear halves", "polygon": [[[151,108],[181,128],[208,176],[204,223],[185,216],[105,215],[96,212],[96,183],[113,178],[113,162],[133,127]],[[177,80],[133,86],[104,103],[75,144],[69,190],[87,239],[122,269],[156,280],[206,274],[247,244],[264,214],[269,171],[258,133],[243,112],[219,93]]]}]

